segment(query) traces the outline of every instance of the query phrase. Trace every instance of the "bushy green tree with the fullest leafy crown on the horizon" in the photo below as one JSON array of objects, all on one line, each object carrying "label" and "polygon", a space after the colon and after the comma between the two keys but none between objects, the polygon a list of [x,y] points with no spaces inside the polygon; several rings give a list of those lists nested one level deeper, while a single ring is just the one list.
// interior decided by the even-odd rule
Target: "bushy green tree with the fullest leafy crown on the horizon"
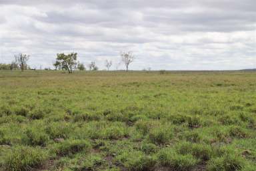
[{"label": "bushy green tree with the fullest leafy crown on the horizon", "polygon": [[53,64],[53,66],[55,69],[65,69],[69,73],[73,73],[77,67],[77,53],[70,53],[68,55],[58,53],[56,62]]}]

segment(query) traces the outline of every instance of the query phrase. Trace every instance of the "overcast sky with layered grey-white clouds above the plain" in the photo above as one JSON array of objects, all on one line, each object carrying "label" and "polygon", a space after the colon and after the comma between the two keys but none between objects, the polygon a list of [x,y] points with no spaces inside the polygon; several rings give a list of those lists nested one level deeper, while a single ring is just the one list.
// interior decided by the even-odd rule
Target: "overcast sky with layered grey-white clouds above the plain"
[{"label": "overcast sky with layered grey-white clouds above the plain", "polygon": [[51,67],[57,53],[124,69],[256,68],[255,0],[0,0],[0,63],[31,55]]}]

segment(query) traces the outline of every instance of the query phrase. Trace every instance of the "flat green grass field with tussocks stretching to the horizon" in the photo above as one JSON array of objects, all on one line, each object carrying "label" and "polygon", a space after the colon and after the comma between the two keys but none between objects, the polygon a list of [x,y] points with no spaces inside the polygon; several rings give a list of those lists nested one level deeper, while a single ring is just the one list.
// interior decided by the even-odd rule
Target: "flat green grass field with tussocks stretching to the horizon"
[{"label": "flat green grass field with tussocks stretching to the horizon", "polygon": [[0,72],[0,170],[255,171],[256,73]]}]

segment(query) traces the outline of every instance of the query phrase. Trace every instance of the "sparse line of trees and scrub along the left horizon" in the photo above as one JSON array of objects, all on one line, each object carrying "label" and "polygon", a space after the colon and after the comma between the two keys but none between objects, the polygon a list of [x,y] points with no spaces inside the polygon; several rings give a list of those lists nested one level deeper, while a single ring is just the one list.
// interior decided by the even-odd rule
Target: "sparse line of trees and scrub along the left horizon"
[{"label": "sparse line of trees and scrub along the left horizon", "polygon": [[[135,56],[131,51],[129,52],[121,52],[121,63],[125,65],[126,71],[128,71],[129,65],[133,63]],[[29,61],[29,55],[26,54],[18,54],[14,56],[14,61],[12,61],[10,64],[6,63],[0,63],[0,70],[27,70],[31,69],[29,65],[27,65],[27,62]],[[106,60],[105,61],[105,67],[107,68],[107,71],[112,66],[112,61]],[[53,63],[53,67],[55,67],[55,70],[65,70],[68,73],[73,73],[75,70],[79,71],[85,71],[85,65],[83,63],[80,63],[77,61],[77,53],[58,53],[57,57],[55,59],[55,63]],[[99,67],[97,67],[95,61],[91,61],[87,65],[89,71],[97,71],[99,70]],[[46,69],[49,70],[49,69]]]}]

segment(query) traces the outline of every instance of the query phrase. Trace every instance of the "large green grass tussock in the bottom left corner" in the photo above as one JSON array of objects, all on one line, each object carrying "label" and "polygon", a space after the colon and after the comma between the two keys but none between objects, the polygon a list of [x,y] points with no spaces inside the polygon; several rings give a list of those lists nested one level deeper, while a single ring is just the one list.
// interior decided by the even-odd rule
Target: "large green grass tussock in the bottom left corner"
[{"label": "large green grass tussock in the bottom left corner", "polygon": [[7,152],[3,158],[3,168],[7,171],[29,171],[43,165],[47,152],[40,148],[17,146]]}]

